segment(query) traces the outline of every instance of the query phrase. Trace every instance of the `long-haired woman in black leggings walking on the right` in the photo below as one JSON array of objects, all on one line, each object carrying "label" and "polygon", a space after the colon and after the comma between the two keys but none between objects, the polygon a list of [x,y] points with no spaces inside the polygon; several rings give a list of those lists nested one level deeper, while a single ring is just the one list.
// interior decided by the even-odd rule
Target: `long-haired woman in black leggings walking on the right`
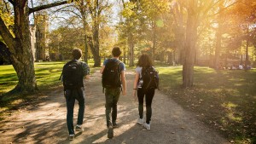
[{"label": "long-haired woman in black leggings walking on the right", "polygon": [[[154,85],[153,87],[149,87],[147,90],[146,88],[143,89],[143,70],[146,69],[152,69],[153,73],[155,72],[153,62],[150,59],[148,55],[141,55],[138,62],[137,67],[135,69],[135,78],[133,83],[133,96],[138,99],[138,112],[139,112],[139,118],[137,119],[137,124],[143,124],[143,126],[150,130],[150,121],[151,121],[151,115],[152,115],[152,101],[154,97],[154,89],[158,88],[158,82],[157,85]],[[152,73],[152,72],[151,72]],[[158,77],[158,76],[157,76]],[[148,79],[148,78],[146,78]],[[144,80],[145,81],[145,80]],[[154,80],[152,80],[154,81]],[[150,80],[151,82],[151,80]],[[148,82],[149,83],[149,82]],[[149,85],[149,84],[148,84]],[[145,96],[146,101],[146,122],[143,123],[143,100]]]}]

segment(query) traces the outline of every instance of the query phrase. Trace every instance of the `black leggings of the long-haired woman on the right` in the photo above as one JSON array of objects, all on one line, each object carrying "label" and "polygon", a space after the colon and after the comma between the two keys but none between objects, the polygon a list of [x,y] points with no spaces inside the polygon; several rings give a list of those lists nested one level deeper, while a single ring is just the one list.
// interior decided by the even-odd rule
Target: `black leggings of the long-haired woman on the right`
[{"label": "black leggings of the long-haired woman on the right", "polygon": [[137,89],[137,98],[138,98],[138,111],[140,118],[143,118],[143,100],[146,95],[146,123],[149,124],[152,115],[152,100],[154,97],[154,89],[149,89],[148,92],[144,93],[143,89]]}]

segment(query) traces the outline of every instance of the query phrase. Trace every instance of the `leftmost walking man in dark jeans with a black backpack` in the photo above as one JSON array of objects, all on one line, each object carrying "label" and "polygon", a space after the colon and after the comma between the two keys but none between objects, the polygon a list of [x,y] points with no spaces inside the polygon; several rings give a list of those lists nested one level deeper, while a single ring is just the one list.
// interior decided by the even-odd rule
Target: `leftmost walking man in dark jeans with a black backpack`
[{"label": "leftmost walking man in dark jeans with a black backpack", "polygon": [[67,129],[69,133],[69,140],[73,140],[75,137],[73,127],[73,107],[75,100],[79,101],[79,114],[78,121],[75,127],[76,131],[83,132],[82,127],[84,121],[84,78],[90,78],[90,67],[79,59],[82,56],[81,49],[73,49],[72,51],[73,60],[67,62],[63,66],[61,73],[64,95],[67,103]]}]

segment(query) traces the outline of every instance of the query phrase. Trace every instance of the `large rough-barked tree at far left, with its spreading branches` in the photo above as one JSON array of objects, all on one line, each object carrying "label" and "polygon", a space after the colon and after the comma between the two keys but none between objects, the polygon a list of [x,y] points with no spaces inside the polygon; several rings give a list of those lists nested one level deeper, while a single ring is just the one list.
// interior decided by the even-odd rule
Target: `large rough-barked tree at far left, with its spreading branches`
[{"label": "large rough-barked tree at far left, with its spreading branches", "polygon": [[68,3],[68,1],[49,3],[34,8],[28,7],[27,0],[8,1],[11,3],[14,9],[14,26],[13,29],[10,30],[1,16],[0,35],[3,37],[3,41],[6,43],[7,48],[9,49],[9,57],[19,79],[14,90],[21,93],[33,92],[38,88],[35,78],[34,60],[32,56],[29,14],[65,4]]}]

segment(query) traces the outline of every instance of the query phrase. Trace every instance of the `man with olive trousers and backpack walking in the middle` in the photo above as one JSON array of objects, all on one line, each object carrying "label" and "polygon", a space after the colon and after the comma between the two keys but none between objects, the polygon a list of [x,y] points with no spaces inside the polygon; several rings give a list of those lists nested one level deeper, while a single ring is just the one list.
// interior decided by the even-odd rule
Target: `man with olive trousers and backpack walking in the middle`
[{"label": "man with olive trousers and backpack walking in the middle", "polygon": [[117,103],[119,95],[126,95],[125,64],[119,60],[121,50],[119,47],[112,49],[113,58],[104,60],[101,69],[102,87],[106,99],[106,120],[108,138],[113,138],[113,128],[117,127]]}]

